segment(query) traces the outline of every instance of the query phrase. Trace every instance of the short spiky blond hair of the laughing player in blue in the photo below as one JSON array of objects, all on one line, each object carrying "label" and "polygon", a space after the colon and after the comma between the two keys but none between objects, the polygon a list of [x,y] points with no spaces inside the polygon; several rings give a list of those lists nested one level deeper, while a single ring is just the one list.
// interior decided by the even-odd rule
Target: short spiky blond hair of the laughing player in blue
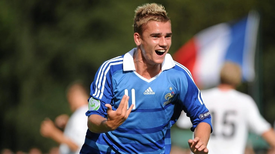
[{"label": "short spiky blond hair of the laughing player in blue", "polygon": [[135,10],[134,33],[142,35],[145,25],[149,21],[167,22],[170,21],[164,7],[161,4],[146,3]]}]

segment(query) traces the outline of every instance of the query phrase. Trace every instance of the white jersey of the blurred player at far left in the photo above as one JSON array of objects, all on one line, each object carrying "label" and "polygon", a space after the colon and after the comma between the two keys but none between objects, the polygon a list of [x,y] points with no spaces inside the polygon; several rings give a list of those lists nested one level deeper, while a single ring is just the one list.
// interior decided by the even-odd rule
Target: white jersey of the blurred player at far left
[{"label": "white jersey of the blurred player at far left", "polygon": [[87,126],[87,116],[85,113],[87,112],[88,105],[84,105],[83,107],[78,108],[72,114],[68,123],[66,124],[64,135],[70,138],[74,143],[76,143],[79,147],[77,151],[72,151],[67,146],[67,144],[61,144],[59,146],[60,154],[79,154],[80,149],[85,141],[86,132],[88,129]]}]

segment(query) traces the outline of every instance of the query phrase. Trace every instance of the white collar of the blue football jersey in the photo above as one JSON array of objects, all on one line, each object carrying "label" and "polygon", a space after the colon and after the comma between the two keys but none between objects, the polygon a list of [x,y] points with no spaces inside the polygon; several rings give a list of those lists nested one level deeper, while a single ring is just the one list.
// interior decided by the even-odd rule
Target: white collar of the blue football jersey
[{"label": "white collar of the blue football jersey", "polygon": [[[134,64],[134,51],[136,48],[133,48],[131,51],[125,53],[123,57],[123,71],[136,71]],[[175,66],[175,62],[172,56],[169,53],[166,53],[164,61],[161,64],[161,72],[164,70],[169,70]]]}]

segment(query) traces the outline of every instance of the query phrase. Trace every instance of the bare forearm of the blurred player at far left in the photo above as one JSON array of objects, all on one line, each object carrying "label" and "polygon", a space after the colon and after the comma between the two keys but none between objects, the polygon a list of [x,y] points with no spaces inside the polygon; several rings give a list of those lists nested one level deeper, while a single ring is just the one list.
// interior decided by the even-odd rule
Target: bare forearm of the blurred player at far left
[{"label": "bare forearm of the blurred player at far left", "polygon": [[67,144],[72,151],[76,151],[79,148],[77,144],[65,136],[64,133],[59,129],[54,130],[50,137],[59,144]]}]

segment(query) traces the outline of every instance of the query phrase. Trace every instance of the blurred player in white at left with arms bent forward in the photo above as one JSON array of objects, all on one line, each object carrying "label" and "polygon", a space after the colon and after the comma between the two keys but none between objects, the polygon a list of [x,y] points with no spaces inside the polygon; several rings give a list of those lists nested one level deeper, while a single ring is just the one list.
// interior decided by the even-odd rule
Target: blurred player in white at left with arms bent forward
[{"label": "blurred player in white at left with arms bent forward", "polygon": [[[41,135],[61,144],[59,146],[60,154],[79,153],[88,129],[87,116],[85,115],[88,109],[88,98],[89,96],[83,85],[74,83],[69,86],[67,99],[73,114],[68,119],[68,122],[64,120],[66,116],[61,115],[56,119],[58,127],[65,126],[64,133],[49,118],[46,118],[42,122],[40,128]],[[58,121],[61,122],[59,123]],[[54,153],[54,151],[52,152]]]}]

